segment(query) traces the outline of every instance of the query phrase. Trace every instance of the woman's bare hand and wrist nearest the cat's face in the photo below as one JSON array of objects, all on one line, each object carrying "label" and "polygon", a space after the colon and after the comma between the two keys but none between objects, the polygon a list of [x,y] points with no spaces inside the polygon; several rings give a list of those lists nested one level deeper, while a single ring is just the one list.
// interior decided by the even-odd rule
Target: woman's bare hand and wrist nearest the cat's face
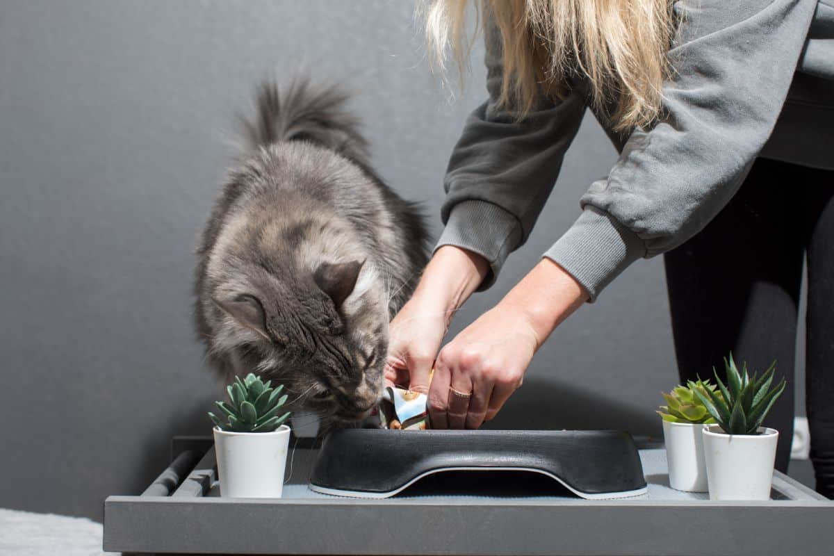
[{"label": "woman's bare hand and wrist nearest the cat's face", "polygon": [[445,245],[426,265],[414,295],[389,327],[386,383],[429,393],[429,375],[455,310],[483,282],[486,259]]}]

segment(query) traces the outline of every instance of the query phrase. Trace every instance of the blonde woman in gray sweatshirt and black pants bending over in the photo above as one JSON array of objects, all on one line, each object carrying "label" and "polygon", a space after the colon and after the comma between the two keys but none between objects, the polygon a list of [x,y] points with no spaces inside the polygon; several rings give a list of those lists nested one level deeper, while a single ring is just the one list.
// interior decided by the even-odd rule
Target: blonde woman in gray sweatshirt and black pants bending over
[{"label": "blonde woman in gray sweatshirt and black pants bending over", "polygon": [[[435,2],[430,46],[465,52],[465,0]],[[392,322],[388,377],[432,423],[500,411],[550,332],[639,258],[665,253],[681,380],[773,358],[793,373],[807,254],[807,413],[834,493],[834,8],[829,0],[492,0],[489,100],[450,158],[445,231]],[[440,349],[448,320],[528,237],[590,108],[620,158],[574,225],[500,303]],[[429,382],[430,369],[435,373]],[[430,384],[430,386],[429,386]],[[793,397],[771,412],[789,457]]]}]

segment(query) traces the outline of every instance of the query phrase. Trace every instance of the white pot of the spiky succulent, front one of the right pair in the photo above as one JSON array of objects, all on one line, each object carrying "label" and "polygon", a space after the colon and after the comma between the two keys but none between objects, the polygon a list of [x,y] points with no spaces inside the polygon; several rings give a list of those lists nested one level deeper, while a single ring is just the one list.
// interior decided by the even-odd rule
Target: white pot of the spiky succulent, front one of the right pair
[{"label": "white pot of the spiky succulent, front one of the right pair", "polygon": [[776,461],[773,428],[760,434],[727,434],[718,425],[704,429],[704,456],[711,500],[769,500]]}]

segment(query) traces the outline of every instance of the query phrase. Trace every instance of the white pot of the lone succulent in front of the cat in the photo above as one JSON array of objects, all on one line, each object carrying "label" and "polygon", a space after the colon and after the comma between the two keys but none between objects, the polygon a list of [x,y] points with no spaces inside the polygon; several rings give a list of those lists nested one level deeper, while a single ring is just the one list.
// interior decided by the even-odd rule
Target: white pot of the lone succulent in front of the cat
[{"label": "white pot of the lone succulent in front of the cat", "polygon": [[229,433],[214,427],[220,495],[281,498],[289,448],[289,427],[272,433]]}]

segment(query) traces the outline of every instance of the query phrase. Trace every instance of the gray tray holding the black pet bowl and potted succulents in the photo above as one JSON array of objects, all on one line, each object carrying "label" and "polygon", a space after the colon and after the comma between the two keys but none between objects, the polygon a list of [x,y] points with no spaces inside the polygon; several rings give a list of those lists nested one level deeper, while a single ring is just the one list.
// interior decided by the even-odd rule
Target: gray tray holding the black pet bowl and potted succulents
[{"label": "gray tray holding the black pet bowl and potted succulents", "polygon": [[[415,433],[419,434],[419,433]],[[829,553],[834,502],[775,473],[771,500],[711,502],[669,487],[666,453],[641,449],[648,493],[576,498],[535,473],[436,475],[394,498],[314,493],[317,449],[291,450],[284,498],[219,498],[210,438],[178,438],[139,496],[104,502],[104,549],[204,554]]]}]

